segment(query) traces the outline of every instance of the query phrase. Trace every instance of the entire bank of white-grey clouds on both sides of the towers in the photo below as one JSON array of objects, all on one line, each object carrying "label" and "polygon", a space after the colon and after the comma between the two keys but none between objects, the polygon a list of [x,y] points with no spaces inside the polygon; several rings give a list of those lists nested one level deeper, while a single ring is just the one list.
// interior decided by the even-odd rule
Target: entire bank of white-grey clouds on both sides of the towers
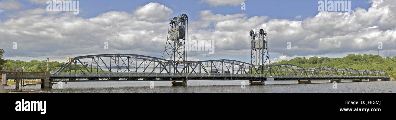
[{"label": "entire bank of white-grey clouds on both sides of the towers", "polygon": [[[189,40],[215,41],[215,53],[188,52],[193,60],[200,56],[249,54],[249,31],[263,28],[268,33],[269,51],[281,54],[272,62],[293,56],[361,53],[373,54],[378,42],[384,49],[396,44],[396,1],[371,0],[369,9],[356,8],[351,14],[321,11],[303,20],[271,19],[265,15],[221,15],[198,11],[188,21]],[[97,17],[81,18],[70,12],[29,9],[0,22],[0,48],[6,57],[57,57],[87,54],[142,54],[160,57],[165,48],[172,11],[150,3],[131,13],[110,11]],[[18,49],[12,49],[12,42]],[[109,42],[109,50],[103,49]],[[291,42],[291,50],[287,49]],[[387,48],[387,46],[389,46]],[[394,49],[394,48],[392,48]]]}]

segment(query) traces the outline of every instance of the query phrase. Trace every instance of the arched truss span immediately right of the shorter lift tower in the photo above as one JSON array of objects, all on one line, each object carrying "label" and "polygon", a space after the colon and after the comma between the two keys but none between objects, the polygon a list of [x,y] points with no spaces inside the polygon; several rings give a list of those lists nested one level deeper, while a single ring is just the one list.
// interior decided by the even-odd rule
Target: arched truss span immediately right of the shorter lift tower
[{"label": "arched truss span immediately right of the shorter lift tower", "polygon": [[301,66],[280,64],[263,66],[267,69],[267,75],[308,75],[305,69]]}]

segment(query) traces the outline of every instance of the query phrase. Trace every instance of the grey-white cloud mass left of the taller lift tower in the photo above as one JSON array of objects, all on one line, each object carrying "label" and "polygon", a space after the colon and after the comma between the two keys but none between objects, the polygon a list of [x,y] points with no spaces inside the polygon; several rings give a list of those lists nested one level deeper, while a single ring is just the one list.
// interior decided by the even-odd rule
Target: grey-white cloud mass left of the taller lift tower
[{"label": "grey-white cloud mass left of the taller lift tower", "polygon": [[[150,6],[147,4],[146,6]],[[154,3],[158,4],[158,3]],[[146,6],[137,8],[142,11]],[[110,11],[93,18],[82,18],[71,12],[47,12],[36,8],[21,11],[0,22],[0,48],[6,57],[56,57],[87,54],[143,54],[161,56],[165,48],[169,11],[157,6],[154,19],[144,14]],[[149,14],[153,15],[153,14]],[[162,22],[158,20],[164,20]],[[13,50],[17,42],[17,50]],[[109,49],[104,49],[104,43]],[[162,52],[161,52],[162,51]]]}]

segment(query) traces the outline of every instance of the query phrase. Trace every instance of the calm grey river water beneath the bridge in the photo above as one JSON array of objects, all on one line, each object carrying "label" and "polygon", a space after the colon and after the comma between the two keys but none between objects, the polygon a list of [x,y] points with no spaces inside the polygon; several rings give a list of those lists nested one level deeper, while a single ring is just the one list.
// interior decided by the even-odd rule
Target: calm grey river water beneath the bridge
[{"label": "calm grey river water beneath the bridge", "polygon": [[[249,85],[242,87],[242,81],[194,81],[187,86],[171,86],[171,81],[84,81],[53,84],[52,89],[41,89],[41,85],[25,86],[23,90],[38,93],[396,93],[396,81],[364,81],[337,83],[337,89],[329,81],[312,81],[312,84],[297,84],[297,81],[265,81],[266,85]],[[152,85],[152,84],[151,84]],[[5,86],[6,92],[15,85]]]}]

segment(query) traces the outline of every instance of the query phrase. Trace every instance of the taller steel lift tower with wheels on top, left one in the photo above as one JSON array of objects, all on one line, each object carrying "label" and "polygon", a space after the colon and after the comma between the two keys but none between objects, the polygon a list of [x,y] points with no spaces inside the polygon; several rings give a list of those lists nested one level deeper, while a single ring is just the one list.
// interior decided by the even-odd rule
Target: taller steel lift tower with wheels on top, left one
[{"label": "taller steel lift tower with wheels on top, left one", "polygon": [[[162,59],[170,59],[175,65],[173,72],[177,68],[183,68],[183,72],[187,72],[187,15],[182,14],[169,19],[168,37]],[[170,68],[169,68],[170,69]]]}]

